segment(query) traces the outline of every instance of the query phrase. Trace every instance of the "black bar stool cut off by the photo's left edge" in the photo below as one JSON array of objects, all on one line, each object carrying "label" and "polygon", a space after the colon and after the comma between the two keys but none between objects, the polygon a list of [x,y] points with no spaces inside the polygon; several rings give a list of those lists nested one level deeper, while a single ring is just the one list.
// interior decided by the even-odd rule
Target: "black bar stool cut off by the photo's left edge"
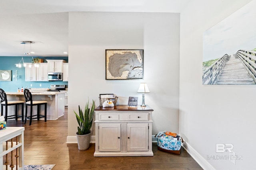
[{"label": "black bar stool cut off by the photo's left edge", "polygon": [[[18,117],[21,117],[22,122],[24,121],[24,101],[22,100],[13,100],[13,101],[7,101],[6,93],[2,88],[0,88],[0,99],[1,99],[1,115],[3,115],[4,110],[3,106],[5,106],[5,116],[4,119],[7,122],[7,119],[13,119],[15,117],[15,120],[18,120]],[[21,115],[18,115],[18,105],[21,105]],[[8,113],[8,106],[15,106],[15,115],[7,115]]]}]

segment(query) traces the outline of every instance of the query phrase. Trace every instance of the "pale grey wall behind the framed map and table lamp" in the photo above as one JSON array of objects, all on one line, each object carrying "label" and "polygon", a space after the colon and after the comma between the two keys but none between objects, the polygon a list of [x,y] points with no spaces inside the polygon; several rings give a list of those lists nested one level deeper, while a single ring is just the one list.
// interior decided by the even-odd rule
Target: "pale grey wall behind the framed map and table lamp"
[{"label": "pale grey wall behind the framed map and table lamp", "polygon": [[[153,112],[153,135],[178,132],[180,14],[128,12],[70,12],[68,136],[75,136],[73,110],[90,97],[114,93],[118,104],[138,96],[140,82],[150,93],[145,103]],[[144,80],[105,80],[105,49],[144,49]],[[151,134],[150,134],[151,135]]]}]

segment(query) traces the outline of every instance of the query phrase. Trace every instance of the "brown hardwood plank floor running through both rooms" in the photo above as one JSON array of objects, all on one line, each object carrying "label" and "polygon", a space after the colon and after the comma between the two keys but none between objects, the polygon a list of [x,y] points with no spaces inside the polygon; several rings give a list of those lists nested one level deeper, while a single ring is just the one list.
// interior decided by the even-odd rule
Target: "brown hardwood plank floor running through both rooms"
[{"label": "brown hardwood plank floor running through both rooms", "polygon": [[153,143],[154,156],[94,157],[94,143],[85,151],[66,144],[68,113],[58,120],[7,121],[7,126],[24,126],[24,164],[56,164],[53,170],[202,170],[182,149],[180,155],[162,152]]}]

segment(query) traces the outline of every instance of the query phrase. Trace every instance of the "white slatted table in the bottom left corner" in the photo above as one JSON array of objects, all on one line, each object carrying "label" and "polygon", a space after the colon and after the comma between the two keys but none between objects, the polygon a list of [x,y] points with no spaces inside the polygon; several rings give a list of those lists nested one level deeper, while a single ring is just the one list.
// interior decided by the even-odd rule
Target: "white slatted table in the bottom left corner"
[{"label": "white slatted table in the bottom left corner", "polygon": [[[8,154],[8,170],[10,164],[10,155],[13,152],[13,165],[18,164],[18,170],[23,170],[24,166],[24,127],[6,127],[6,129],[0,130],[0,170],[5,170],[6,165],[3,162],[4,157]],[[13,142],[11,141],[13,139]],[[17,142],[16,142],[17,140]],[[7,147],[6,147],[7,141]],[[7,149],[6,149],[7,148]],[[18,151],[18,154],[17,154]],[[18,156],[18,162],[16,162],[16,156]]]}]

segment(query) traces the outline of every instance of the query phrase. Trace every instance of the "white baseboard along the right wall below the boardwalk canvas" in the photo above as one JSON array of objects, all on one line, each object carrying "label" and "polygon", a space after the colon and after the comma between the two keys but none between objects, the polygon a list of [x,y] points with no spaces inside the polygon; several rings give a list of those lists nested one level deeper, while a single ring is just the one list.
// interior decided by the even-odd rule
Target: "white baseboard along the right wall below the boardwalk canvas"
[{"label": "white baseboard along the right wall below the boardwalk canvas", "polygon": [[182,147],[204,170],[216,170],[204,157],[202,157],[202,155],[200,155],[194,148],[186,143],[186,141],[184,141]]}]

